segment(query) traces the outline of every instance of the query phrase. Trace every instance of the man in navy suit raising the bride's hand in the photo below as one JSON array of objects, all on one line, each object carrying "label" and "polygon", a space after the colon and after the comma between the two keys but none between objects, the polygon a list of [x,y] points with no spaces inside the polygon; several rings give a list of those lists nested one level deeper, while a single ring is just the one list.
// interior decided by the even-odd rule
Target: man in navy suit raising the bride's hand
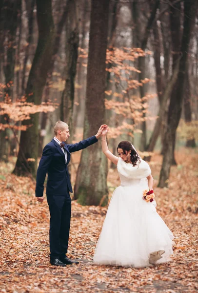
[{"label": "man in navy suit raising the bride's hand", "polygon": [[54,126],[55,137],[43,148],[37,170],[36,196],[43,202],[43,184],[46,173],[47,178],[47,203],[50,211],[50,264],[64,267],[73,263],[79,263],[66,256],[70,219],[71,198],[73,192],[67,165],[70,161],[70,153],[86,148],[98,142],[103,126],[99,127],[96,135],[84,139],[76,144],[67,145],[64,142],[69,138],[69,127],[66,123],[58,121]]}]

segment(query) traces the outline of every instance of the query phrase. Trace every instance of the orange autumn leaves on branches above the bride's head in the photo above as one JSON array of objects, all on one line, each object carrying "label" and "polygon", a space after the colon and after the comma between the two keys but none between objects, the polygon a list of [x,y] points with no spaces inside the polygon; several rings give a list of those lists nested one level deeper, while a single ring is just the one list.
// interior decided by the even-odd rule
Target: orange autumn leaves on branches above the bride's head
[{"label": "orange autumn leaves on branches above the bride's head", "polygon": [[[79,58],[83,59],[83,66],[87,66],[87,51],[79,49]],[[148,78],[140,82],[134,77],[134,72],[140,71],[133,66],[139,57],[151,54],[150,51],[144,52],[140,48],[116,48],[107,49],[106,53],[106,71],[111,74],[110,83],[117,85],[117,90],[108,89],[105,91],[105,108],[116,114],[116,120],[119,126],[111,124],[109,137],[116,138],[120,134],[126,133],[134,136],[136,132],[142,132],[140,125],[143,121],[156,119],[156,117],[144,117],[144,113],[148,112],[148,99],[156,97],[156,94],[146,94],[140,98],[139,93],[132,95],[133,90],[137,90],[139,86],[154,82]]]}]

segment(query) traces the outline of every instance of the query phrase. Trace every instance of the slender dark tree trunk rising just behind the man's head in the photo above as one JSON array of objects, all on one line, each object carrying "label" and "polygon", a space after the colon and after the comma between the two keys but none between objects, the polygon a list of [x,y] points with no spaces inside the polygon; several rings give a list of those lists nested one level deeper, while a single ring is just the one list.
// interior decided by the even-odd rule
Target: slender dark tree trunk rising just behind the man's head
[{"label": "slender dark tree trunk rising just behind the man's head", "polygon": [[78,0],[71,1],[69,5],[68,17],[66,20],[66,69],[65,88],[62,93],[60,120],[65,121],[70,128],[70,142],[73,140],[72,115],[74,108],[75,76],[79,48],[79,12]]}]

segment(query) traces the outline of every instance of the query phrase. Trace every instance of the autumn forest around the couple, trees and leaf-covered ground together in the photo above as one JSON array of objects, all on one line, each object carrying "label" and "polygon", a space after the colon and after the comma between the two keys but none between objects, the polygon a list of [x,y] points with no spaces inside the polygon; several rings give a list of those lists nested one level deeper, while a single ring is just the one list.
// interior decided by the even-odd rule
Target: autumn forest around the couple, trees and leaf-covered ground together
[{"label": "autumn forest around the couple, trees and leaf-covered ground together", "polygon": [[[69,164],[69,255],[80,266],[49,266],[49,212],[35,186],[57,121],[68,144],[107,124],[115,155],[123,140],[138,149],[175,235],[171,263],[92,263],[119,186],[99,139]],[[196,292],[197,129],[198,0],[0,0],[1,292]]]}]

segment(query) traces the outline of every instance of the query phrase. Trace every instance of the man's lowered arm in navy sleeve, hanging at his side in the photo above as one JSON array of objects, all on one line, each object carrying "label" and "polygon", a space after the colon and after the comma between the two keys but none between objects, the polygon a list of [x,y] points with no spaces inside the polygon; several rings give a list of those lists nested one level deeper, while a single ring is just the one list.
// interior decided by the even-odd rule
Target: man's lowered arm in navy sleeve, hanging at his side
[{"label": "man's lowered arm in navy sleeve, hanging at his side", "polygon": [[52,161],[52,157],[53,157],[52,148],[46,145],[43,148],[42,157],[40,159],[39,167],[37,170],[37,184],[36,184],[36,190],[35,190],[36,197],[43,196],[44,181],[45,181],[48,167]]}]

